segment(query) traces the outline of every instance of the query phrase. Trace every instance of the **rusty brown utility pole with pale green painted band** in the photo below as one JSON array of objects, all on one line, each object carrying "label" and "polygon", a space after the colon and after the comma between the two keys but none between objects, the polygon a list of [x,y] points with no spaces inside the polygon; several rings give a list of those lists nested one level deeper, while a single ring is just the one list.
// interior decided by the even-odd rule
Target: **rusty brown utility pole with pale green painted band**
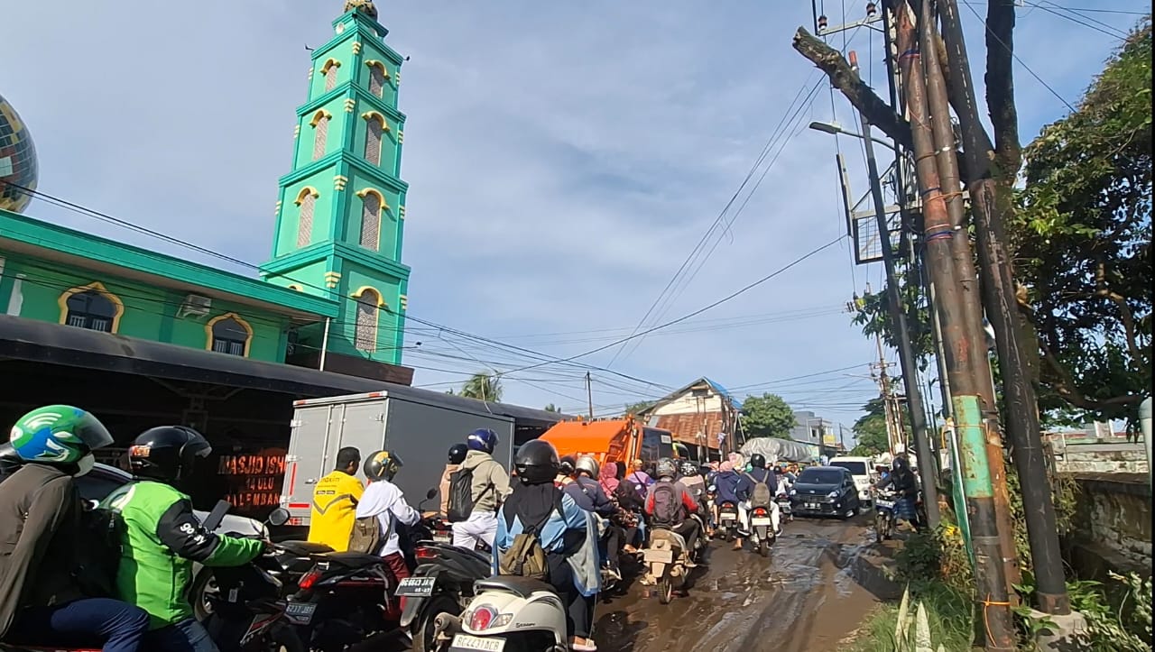
[{"label": "rusty brown utility pole with pale green painted band", "polygon": [[[926,20],[933,13],[930,9],[930,1],[922,0],[918,32],[923,37],[921,51],[922,55],[926,57],[924,61],[919,55],[918,43],[914,38],[915,30],[910,16],[901,9],[901,2],[897,6],[901,12],[897,16],[899,52],[902,53],[899,63],[907,93],[918,187],[923,198],[924,256],[931,280],[938,292],[934,309],[941,317],[947,372],[953,392],[953,412],[959,432],[959,457],[967,499],[966,509],[970,516],[975,560],[975,595],[977,613],[983,621],[979,629],[986,650],[1011,652],[1015,649],[1015,627],[1003,561],[1003,541],[999,538],[991,459],[988,454],[989,422],[984,422],[983,419],[977,381],[981,376],[975,373],[975,367],[982,362],[976,358],[982,354],[982,359],[985,359],[985,354],[982,351],[984,347],[979,344],[982,340],[975,337],[975,331],[978,329],[977,320],[973,324],[967,323],[973,315],[966,306],[968,298],[964,295],[964,284],[973,283],[974,276],[967,278],[964,267],[960,267],[955,257],[955,253],[963,246],[969,249],[969,242],[966,231],[961,228],[961,222],[952,222],[952,215],[946,205],[946,193],[959,195],[961,193],[955,190],[956,186],[940,185],[939,165],[942,157],[936,156],[936,152],[941,152],[937,147],[941,138],[936,136],[945,129],[953,140],[953,133],[949,113],[944,103],[938,102],[945,100],[945,88],[938,93],[940,97],[934,98],[934,103],[927,97],[934,95],[929,87],[936,83],[942,84],[932,40],[933,30],[929,29]],[[932,133],[932,111],[934,130],[939,134]],[[945,153],[953,157],[954,147],[948,147]],[[939,160],[936,162],[936,158]],[[944,186],[945,193],[940,189]],[[957,241],[962,243],[959,245]]]}]

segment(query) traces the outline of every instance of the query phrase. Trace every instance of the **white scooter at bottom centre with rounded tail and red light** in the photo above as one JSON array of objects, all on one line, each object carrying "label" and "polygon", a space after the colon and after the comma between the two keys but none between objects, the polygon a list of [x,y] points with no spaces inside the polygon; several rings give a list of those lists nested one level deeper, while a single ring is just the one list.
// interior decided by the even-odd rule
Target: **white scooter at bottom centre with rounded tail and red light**
[{"label": "white scooter at bottom centre with rounded tail and red light", "polygon": [[549,584],[500,575],[475,582],[474,593],[461,616],[437,616],[438,652],[568,652],[566,608]]}]

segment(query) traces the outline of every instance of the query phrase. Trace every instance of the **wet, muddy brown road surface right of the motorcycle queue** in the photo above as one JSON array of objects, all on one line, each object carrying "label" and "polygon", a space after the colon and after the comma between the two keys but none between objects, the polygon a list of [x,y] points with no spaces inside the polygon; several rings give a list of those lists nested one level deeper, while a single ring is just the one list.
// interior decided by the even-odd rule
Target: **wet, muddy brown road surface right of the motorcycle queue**
[{"label": "wet, muddy brown road surface right of the motorcycle queue", "polygon": [[[869,517],[785,524],[768,557],[710,544],[685,595],[661,605],[638,582],[597,606],[603,652],[827,652],[894,587]],[[628,582],[628,578],[627,578]]]}]

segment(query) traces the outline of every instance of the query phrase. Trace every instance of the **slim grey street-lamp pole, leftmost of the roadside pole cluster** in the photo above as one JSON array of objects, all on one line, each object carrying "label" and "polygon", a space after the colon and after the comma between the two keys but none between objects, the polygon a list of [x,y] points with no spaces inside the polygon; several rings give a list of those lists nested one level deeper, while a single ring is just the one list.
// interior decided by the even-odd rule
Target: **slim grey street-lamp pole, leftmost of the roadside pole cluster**
[{"label": "slim grey street-lamp pole, leftmost of the roadside pole cluster", "polygon": [[[858,74],[858,57],[854,52],[850,52],[850,69],[854,70],[855,75]],[[886,269],[887,303],[891,309],[891,321],[894,322],[894,335],[897,340],[895,346],[899,349],[902,384],[907,392],[907,411],[910,413],[910,429],[915,436],[915,452],[923,477],[923,505],[926,508],[929,525],[931,529],[937,529],[939,525],[938,465],[931,455],[930,440],[926,435],[926,411],[923,409],[923,394],[918,388],[918,362],[915,360],[914,347],[910,345],[907,310],[899,295],[899,275],[895,272],[891,230],[886,224],[886,201],[882,198],[882,182],[878,177],[878,163],[874,160],[874,141],[871,140],[870,120],[860,111],[858,115],[862,120],[862,141],[866,151],[866,172],[870,175],[871,196],[874,200],[874,217],[878,220],[882,267]],[[897,158],[895,165],[901,166],[901,160]]]}]

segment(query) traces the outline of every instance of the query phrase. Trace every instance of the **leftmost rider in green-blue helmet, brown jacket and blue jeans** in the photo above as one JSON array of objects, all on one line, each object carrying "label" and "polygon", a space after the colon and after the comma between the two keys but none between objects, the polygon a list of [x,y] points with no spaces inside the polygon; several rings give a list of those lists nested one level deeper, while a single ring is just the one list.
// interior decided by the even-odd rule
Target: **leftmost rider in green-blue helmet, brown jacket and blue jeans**
[{"label": "leftmost rider in green-blue helmet, brown jacket and blue jeans", "polygon": [[38,407],[13,426],[8,445],[16,459],[6,451],[10,474],[0,485],[0,640],[141,649],[144,609],[80,582],[90,575],[77,564],[81,547],[92,541],[83,533],[75,478],[92,469],[94,450],[111,443],[96,417],[70,405]]}]

